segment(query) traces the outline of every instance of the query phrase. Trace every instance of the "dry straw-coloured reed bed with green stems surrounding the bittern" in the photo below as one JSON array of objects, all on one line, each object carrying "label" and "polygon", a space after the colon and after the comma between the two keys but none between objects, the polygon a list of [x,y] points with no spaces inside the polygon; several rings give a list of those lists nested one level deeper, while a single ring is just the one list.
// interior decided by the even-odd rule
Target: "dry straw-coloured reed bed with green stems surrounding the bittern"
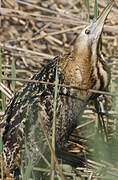
[{"label": "dry straw-coloured reed bed with green stems surrounding the bittern", "polygon": [[[69,51],[81,29],[96,18],[108,1],[103,0],[1,0],[0,17],[0,118],[13,94],[40,68],[60,53]],[[102,36],[102,51],[111,67],[109,93],[87,106],[74,135],[82,144],[67,143],[68,151],[87,157],[85,167],[72,170],[60,165],[54,155],[53,128],[51,162],[42,156],[47,167],[33,167],[26,147],[26,166],[21,163],[22,179],[33,171],[43,179],[118,179],[118,1],[110,12]],[[57,67],[58,71],[58,67]],[[34,82],[35,83],[35,82]],[[58,92],[55,85],[55,109]],[[101,93],[103,94],[103,93]],[[56,110],[54,109],[54,127]],[[39,117],[40,119],[40,117]],[[41,119],[40,119],[41,121]],[[43,128],[43,124],[42,124]],[[44,129],[45,131],[45,129]],[[47,136],[45,134],[45,136]],[[70,137],[73,139],[73,137]],[[48,140],[48,137],[47,137]],[[0,153],[2,141],[0,140]],[[53,147],[53,149],[52,149]],[[2,163],[1,163],[2,164]],[[50,169],[52,171],[50,171]],[[3,172],[1,166],[1,172]],[[51,173],[50,173],[51,172]],[[3,176],[2,176],[2,179]],[[32,175],[32,179],[33,175]],[[40,178],[39,178],[40,179]]]}]

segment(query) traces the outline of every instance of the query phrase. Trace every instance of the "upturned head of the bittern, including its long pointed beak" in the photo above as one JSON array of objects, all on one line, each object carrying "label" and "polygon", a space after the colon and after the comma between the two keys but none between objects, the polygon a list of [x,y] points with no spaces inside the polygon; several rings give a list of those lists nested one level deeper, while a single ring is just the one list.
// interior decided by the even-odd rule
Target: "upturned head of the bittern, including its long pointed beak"
[{"label": "upturned head of the bittern, including its long pointed beak", "polygon": [[113,3],[113,1],[110,1],[100,16],[96,20],[93,20],[90,25],[81,31],[75,43],[75,50],[78,52],[78,54],[87,55],[89,51],[92,51],[92,53],[94,51],[95,53],[98,47],[98,42],[103,30],[105,19],[109,14]]}]

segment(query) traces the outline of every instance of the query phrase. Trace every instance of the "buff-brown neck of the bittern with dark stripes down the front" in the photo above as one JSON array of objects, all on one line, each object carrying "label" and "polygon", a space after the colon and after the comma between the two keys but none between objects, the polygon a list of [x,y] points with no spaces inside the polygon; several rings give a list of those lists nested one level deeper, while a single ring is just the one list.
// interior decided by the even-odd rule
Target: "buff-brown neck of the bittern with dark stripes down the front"
[{"label": "buff-brown neck of the bittern with dark stripes down the front", "polygon": [[97,44],[91,47],[74,46],[74,50],[64,56],[61,71],[65,76],[65,83],[81,88],[104,89],[108,85],[108,66],[98,51]]}]

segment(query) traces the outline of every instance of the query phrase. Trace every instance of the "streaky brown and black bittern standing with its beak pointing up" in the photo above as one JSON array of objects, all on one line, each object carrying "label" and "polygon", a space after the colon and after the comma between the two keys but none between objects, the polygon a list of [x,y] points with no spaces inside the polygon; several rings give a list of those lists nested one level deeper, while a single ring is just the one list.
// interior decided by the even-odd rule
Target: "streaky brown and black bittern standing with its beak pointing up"
[{"label": "streaky brown and black bittern standing with its beak pointing up", "polygon": [[[101,15],[78,35],[73,51],[54,58],[47,66],[35,74],[32,80],[55,82],[58,64],[59,84],[106,90],[110,81],[110,71],[101,56],[99,39],[104,21],[113,6],[110,1]],[[56,147],[63,149],[69,135],[76,128],[82,113],[96,95],[90,91],[58,87],[56,109]],[[23,145],[36,154],[37,148],[43,148],[42,130],[38,121],[38,112],[45,124],[49,136],[52,134],[54,105],[54,85],[27,83],[11,100],[4,117],[2,127],[4,174],[15,174],[20,167],[20,152]]]}]

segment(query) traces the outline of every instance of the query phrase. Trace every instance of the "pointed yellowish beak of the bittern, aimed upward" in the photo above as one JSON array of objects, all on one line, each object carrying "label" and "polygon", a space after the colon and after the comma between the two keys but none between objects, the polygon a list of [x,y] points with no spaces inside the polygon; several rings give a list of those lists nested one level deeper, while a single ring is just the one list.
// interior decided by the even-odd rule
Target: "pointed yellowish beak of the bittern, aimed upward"
[{"label": "pointed yellowish beak of the bittern, aimed upward", "polygon": [[99,39],[103,26],[104,26],[105,19],[107,15],[109,14],[113,4],[114,4],[114,1],[110,1],[109,4],[105,7],[105,9],[102,11],[100,16],[96,19],[96,21],[92,22],[90,30],[94,39],[96,40]]}]

